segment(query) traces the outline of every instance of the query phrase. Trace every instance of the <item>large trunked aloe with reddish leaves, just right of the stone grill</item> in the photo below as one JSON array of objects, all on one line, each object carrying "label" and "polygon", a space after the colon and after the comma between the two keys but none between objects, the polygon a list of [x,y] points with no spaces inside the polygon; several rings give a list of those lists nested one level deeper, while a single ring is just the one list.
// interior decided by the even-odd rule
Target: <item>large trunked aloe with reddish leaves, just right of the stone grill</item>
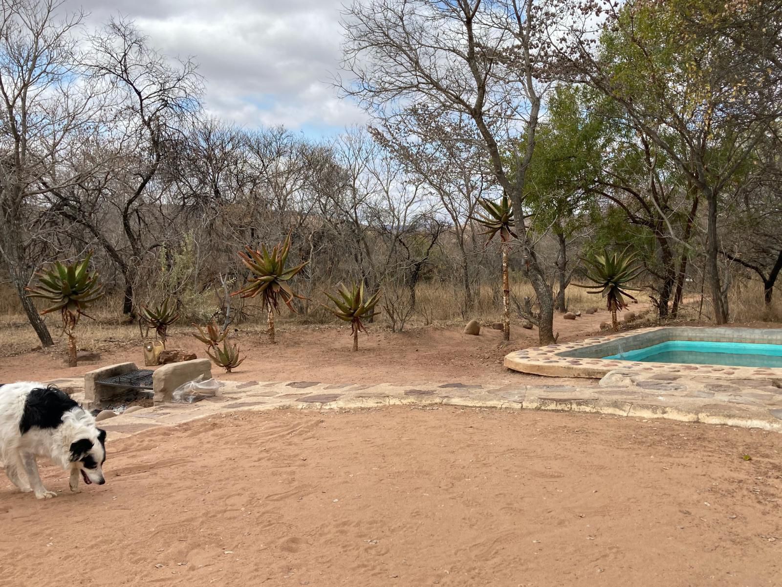
[{"label": "large trunked aloe with reddish leaves, just right of the stone grill", "polygon": [[233,292],[231,295],[241,297],[261,296],[261,307],[269,313],[269,342],[274,344],[274,312],[279,312],[279,301],[288,306],[291,312],[296,312],[291,302],[298,297],[300,300],[306,297],[296,294],[288,282],[297,273],[299,273],[307,262],[296,267],[285,268],[288,262],[288,254],[291,248],[290,234],[285,241],[274,245],[271,252],[266,245],[261,245],[260,250],[253,250],[246,247],[246,252],[239,252],[242,263],[249,269],[250,276],[242,289]]}]

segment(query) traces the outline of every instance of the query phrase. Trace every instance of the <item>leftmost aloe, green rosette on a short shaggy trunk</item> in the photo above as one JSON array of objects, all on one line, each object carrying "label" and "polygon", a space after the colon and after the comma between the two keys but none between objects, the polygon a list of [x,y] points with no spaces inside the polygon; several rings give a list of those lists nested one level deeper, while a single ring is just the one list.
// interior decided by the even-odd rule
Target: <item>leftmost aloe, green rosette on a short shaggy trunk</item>
[{"label": "leftmost aloe, green rosette on a short shaggy trunk", "polygon": [[88,254],[82,261],[65,264],[56,261],[53,268],[38,274],[38,286],[27,287],[30,297],[48,301],[49,306],[41,315],[59,310],[63,319],[63,330],[68,336],[68,366],[77,366],[76,335],[74,330],[84,311],[103,296],[98,272],[89,271]]}]

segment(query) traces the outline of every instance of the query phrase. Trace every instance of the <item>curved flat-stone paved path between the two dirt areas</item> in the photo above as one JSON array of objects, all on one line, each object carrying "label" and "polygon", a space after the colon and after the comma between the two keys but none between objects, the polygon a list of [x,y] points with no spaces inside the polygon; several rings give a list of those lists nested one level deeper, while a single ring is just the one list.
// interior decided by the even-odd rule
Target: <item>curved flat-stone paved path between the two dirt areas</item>
[{"label": "curved flat-stone paved path between the two dirt areas", "polygon": [[[577,380],[576,380],[577,381]],[[50,383],[84,400],[84,380]],[[782,383],[771,379],[719,379],[694,374],[615,370],[599,387],[573,385],[400,385],[317,382],[224,382],[218,395],[195,404],[166,404],[103,420],[112,438],[172,426],[217,413],[270,409],[361,409],[387,405],[457,405],[497,409],[590,412],[643,419],[782,431]]]}]

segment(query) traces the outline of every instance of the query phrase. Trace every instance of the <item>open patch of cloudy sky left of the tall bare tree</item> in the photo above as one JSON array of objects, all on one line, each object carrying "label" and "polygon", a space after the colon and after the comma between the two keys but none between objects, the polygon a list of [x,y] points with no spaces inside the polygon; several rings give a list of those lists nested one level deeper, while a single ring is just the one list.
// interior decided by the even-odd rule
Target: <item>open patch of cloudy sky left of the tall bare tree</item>
[{"label": "open patch of cloudy sky left of the tall bare tree", "polygon": [[206,108],[246,127],[331,135],[364,115],[328,85],[339,67],[342,0],[67,0],[97,27],[127,16],[168,56],[193,56]]}]

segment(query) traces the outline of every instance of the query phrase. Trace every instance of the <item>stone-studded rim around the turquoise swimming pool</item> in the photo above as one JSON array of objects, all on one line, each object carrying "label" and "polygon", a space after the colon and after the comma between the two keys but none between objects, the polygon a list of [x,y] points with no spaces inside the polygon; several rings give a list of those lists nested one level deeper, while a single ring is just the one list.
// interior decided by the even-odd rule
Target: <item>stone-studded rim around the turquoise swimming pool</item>
[{"label": "stone-studded rim around the turquoise swimming pool", "polygon": [[631,362],[598,358],[622,351],[660,344],[668,340],[712,340],[735,343],[782,344],[782,329],[714,328],[708,326],[658,326],[591,337],[577,342],[549,344],[526,348],[505,356],[508,369],[556,377],[589,377],[599,379],[615,369],[639,373],[691,373],[698,376],[731,379],[777,379],[782,369],[771,367],[729,367],[681,363]]}]

